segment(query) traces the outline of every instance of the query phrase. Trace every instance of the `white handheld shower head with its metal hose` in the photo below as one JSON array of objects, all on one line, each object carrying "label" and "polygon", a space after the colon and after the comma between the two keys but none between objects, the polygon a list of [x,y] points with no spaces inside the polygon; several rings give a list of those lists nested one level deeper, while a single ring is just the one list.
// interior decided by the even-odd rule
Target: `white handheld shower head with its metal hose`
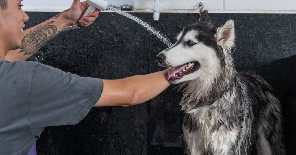
[{"label": "white handheld shower head with its metal hose", "polygon": [[[107,2],[103,0],[86,0],[89,3],[89,8],[84,12],[84,14],[81,16],[81,19],[84,16],[88,16],[89,13],[94,12],[96,8],[105,11],[107,7]],[[72,25],[66,27],[63,31],[69,31],[69,30],[75,30],[79,29],[81,27],[81,23],[78,23],[77,25]]]}]

